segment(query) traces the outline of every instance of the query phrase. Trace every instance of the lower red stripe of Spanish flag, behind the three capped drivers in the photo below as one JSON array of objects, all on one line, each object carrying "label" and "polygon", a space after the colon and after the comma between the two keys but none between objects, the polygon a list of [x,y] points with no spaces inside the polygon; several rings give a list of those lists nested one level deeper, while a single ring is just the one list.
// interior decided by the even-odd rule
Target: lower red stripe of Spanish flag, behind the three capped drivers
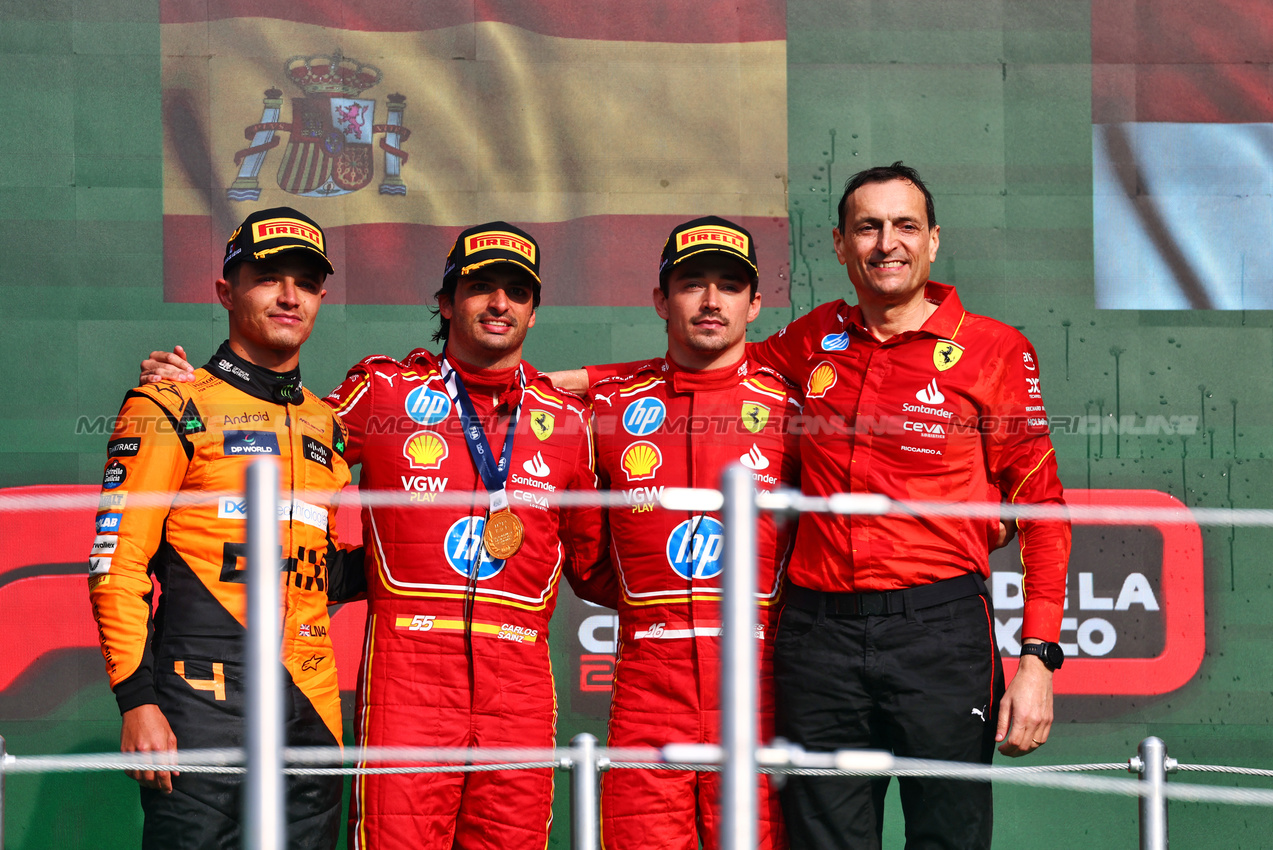
[{"label": "lower red stripe of Spanish flag, behind the three capped drivers", "polygon": [[[247,214],[248,210],[243,210]],[[542,252],[547,307],[649,307],[658,256],[672,228],[689,215],[600,215],[568,221],[516,223]],[[788,225],[784,218],[736,219],[751,232],[760,258],[765,307],[788,307]],[[327,228],[336,275],[328,304],[432,304],[442,267],[463,228],[353,224]],[[225,228],[197,215],[164,216],[164,300],[211,303],[220,276]]]}]

